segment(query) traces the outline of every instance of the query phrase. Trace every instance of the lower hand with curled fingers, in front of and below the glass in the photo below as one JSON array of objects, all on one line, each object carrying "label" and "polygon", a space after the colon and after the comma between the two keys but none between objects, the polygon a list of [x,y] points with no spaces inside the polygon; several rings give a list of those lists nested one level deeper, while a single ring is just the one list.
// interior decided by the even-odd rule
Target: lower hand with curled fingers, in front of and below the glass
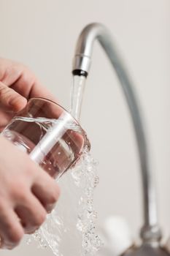
[{"label": "lower hand with curled fingers, in front of and below the glass", "polygon": [[2,136],[0,148],[1,248],[12,249],[24,233],[42,225],[60,191],[53,178]]}]

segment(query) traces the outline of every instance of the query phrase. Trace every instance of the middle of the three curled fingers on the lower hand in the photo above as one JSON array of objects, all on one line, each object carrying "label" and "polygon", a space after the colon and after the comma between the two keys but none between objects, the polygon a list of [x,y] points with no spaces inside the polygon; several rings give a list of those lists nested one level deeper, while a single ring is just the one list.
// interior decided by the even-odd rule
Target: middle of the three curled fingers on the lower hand
[{"label": "middle of the three curled fingers on the lower hand", "polygon": [[22,205],[15,207],[15,212],[20,218],[25,233],[34,233],[45,222],[47,215],[45,208],[31,192]]}]

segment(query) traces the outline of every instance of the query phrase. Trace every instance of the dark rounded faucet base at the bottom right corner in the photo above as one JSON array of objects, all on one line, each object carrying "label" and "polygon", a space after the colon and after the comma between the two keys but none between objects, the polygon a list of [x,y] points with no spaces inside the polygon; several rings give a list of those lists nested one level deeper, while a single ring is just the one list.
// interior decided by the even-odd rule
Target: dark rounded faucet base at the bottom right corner
[{"label": "dark rounded faucet base at the bottom right corner", "polygon": [[131,247],[122,256],[169,256],[169,252],[161,246],[142,244],[140,247]]}]

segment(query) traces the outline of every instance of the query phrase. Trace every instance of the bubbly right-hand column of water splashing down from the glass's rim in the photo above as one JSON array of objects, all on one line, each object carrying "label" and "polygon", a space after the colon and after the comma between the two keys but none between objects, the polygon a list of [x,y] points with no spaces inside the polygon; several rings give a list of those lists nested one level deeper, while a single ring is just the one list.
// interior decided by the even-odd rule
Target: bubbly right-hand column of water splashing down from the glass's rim
[{"label": "bubbly right-hand column of water splashing down from the glass's rim", "polygon": [[93,206],[93,193],[98,185],[97,162],[89,152],[83,154],[81,162],[72,171],[75,184],[82,188],[79,200],[77,229],[82,233],[82,255],[96,255],[103,244],[96,233],[97,212]]}]

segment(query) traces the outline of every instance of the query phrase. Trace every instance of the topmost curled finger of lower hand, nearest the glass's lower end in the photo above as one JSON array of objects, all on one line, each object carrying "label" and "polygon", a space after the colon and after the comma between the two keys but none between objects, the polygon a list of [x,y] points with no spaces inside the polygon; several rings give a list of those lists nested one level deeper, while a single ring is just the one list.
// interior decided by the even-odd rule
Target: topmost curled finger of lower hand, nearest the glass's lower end
[{"label": "topmost curled finger of lower hand, nearest the glass's lower end", "polygon": [[46,211],[51,211],[60,196],[58,184],[45,171],[42,170],[41,176],[36,178],[31,191],[39,199]]}]

